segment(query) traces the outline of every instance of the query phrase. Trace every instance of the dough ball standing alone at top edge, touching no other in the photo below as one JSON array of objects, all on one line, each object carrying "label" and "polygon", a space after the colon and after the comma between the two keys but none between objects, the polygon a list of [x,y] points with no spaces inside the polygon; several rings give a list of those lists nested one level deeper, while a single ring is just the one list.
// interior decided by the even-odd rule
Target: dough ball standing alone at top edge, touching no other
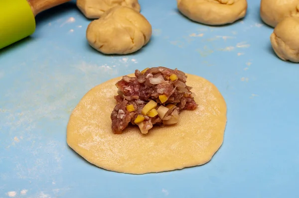
[{"label": "dough ball standing alone at top edge, touching no other", "polygon": [[246,0],[177,0],[179,11],[193,21],[207,25],[224,25],[243,18]]}]

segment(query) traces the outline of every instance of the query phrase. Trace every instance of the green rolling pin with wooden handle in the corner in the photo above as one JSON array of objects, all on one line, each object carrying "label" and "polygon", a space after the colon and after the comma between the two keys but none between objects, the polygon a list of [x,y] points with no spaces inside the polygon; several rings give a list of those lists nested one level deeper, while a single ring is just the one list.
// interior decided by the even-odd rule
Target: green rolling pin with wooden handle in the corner
[{"label": "green rolling pin with wooden handle in the corner", "polygon": [[36,14],[70,0],[0,0],[0,49],[35,31]]}]

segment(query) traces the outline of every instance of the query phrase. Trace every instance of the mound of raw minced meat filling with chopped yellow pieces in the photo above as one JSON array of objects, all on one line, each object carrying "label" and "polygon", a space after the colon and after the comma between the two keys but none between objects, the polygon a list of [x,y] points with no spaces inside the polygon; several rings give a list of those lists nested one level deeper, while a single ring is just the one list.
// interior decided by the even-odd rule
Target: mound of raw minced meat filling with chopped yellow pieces
[{"label": "mound of raw minced meat filling with chopped yellow pieces", "polygon": [[181,110],[197,107],[186,79],[185,73],[165,67],[136,70],[135,77],[123,76],[116,83],[117,105],[111,113],[113,132],[121,134],[129,123],[138,125],[143,134],[153,125],[177,123]]}]

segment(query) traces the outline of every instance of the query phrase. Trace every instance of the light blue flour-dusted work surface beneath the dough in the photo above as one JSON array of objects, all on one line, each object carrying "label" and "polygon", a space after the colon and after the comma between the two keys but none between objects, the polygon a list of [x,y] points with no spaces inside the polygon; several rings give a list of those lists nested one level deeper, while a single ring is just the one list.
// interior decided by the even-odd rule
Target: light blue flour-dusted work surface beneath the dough
[{"label": "light blue flour-dusted work surface beneath the dough", "polygon": [[[140,0],[150,43],[126,56],[87,44],[74,3],[36,17],[0,51],[0,198],[298,198],[299,65],[281,61],[249,0],[244,20],[194,23],[175,0]],[[72,109],[95,85],[153,66],[214,83],[228,107],[224,143],[199,167],[141,176],[99,169],[66,144]]]}]

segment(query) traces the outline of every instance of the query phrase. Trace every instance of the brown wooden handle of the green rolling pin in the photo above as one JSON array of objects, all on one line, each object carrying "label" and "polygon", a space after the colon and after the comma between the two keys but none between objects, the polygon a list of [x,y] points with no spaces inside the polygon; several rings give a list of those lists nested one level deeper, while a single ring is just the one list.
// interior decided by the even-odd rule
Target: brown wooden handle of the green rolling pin
[{"label": "brown wooden handle of the green rolling pin", "polygon": [[46,9],[68,2],[70,0],[27,0],[27,1],[31,6],[34,16],[36,16],[36,14]]}]

